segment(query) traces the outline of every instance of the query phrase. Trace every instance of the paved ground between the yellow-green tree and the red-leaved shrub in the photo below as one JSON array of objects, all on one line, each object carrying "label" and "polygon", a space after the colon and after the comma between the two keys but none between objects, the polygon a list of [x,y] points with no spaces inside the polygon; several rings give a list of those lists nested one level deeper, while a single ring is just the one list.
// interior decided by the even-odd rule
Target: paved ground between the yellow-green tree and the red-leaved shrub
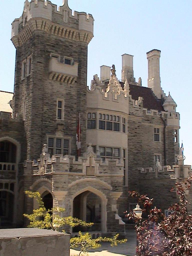
[{"label": "paved ground between the yellow-green tree and the red-leaved shrub", "polygon": [[[102,243],[102,246],[95,250],[89,251],[89,256],[121,256],[121,255],[135,255],[136,248],[136,234],[134,230],[126,232],[126,243],[111,247],[110,243]],[[78,255],[79,250],[70,250],[70,256]]]}]

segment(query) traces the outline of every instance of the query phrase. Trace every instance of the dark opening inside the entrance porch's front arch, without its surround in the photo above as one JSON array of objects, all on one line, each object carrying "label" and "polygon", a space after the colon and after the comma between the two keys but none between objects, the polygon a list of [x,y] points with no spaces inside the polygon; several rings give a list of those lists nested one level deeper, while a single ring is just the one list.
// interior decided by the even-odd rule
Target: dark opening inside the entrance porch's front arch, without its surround
[{"label": "dark opening inside the entrance porch's front arch, without its surround", "polygon": [[78,231],[101,231],[101,205],[99,196],[91,191],[84,191],[73,199],[73,217],[86,222],[93,222],[92,227],[75,227],[73,232]]}]

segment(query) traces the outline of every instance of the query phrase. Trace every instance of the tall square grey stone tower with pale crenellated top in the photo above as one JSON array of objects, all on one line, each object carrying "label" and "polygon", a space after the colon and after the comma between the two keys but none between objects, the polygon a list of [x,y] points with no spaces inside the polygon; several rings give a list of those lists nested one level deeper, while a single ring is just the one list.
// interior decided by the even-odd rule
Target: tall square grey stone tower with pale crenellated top
[{"label": "tall square grey stone tower with pale crenellated top", "polygon": [[[23,114],[23,151],[27,152],[23,159],[37,158],[50,136],[51,146],[60,148],[51,153],[62,154],[67,147],[74,155],[79,113],[85,151],[87,47],[93,21],[84,12],[72,15],[67,0],[58,9],[50,1],[26,0],[22,16],[12,23],[16,48],[13,116]],[[68,145],[58,145],[58,136],[68,140]]]}]

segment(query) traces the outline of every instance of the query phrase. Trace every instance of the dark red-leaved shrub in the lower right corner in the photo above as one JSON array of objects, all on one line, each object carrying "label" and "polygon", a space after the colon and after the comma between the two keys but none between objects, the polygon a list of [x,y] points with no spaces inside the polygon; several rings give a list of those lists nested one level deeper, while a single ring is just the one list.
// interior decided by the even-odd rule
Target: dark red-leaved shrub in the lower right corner
[{"label": "dark red-leaved shrub in the lower right corner", "polygon": [[143,212],[149,212],[147,219],[135,219],[133,213],[126,214],[126,217],[134,218],[136,222],[137,256],[192,255],[192,216],[188,215],[187,204],[190,202],[186,199],[186,190],[191,189],[191,184],[192,176],[183,184],[176,183],[180,203],[169,208],[172,213],[168,217],[157,207],[151,209],[153,199],[136,191],[129,192],[143,205]]}]

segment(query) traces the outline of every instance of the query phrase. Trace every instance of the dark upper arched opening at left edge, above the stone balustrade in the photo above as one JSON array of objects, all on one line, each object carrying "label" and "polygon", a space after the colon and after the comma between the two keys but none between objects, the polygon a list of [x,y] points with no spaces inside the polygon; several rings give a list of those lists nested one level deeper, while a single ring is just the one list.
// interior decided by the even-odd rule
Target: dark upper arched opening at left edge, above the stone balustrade
[{"label": "dark upper arched opening at left edge, above the stone balustrade", "polygon": [[0,162],[16,163],[16,146],[9,141],[0,142]]}]

